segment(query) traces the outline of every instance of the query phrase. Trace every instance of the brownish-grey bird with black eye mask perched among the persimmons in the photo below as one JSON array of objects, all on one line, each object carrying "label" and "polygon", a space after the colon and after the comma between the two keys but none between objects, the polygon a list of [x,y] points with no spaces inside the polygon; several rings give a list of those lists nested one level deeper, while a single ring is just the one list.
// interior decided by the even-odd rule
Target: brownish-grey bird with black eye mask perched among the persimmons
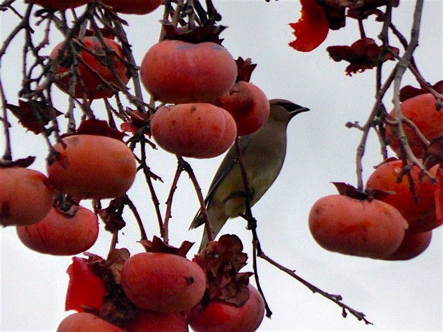
[{"label": "brownish-grey bird with black eye mask perched among the persimmons", "polygon": [[[239,138],[239,147],[251,190],[251,207],[262,198],[280,174],[286,155],[286,129],[289,120],[298,113],[309,111],[293,102],[282,99],[269,101],[271,111],[266,123],[257,131]],[[246,212],[244,183],[240,167],[235,160],[235,145],[230,147],[210,184],[205,203],[214,237],[230,218]],[[197,212],[190,229],[204,224],[201,212]],[[200,249],[208,243],[204,231]]]}]

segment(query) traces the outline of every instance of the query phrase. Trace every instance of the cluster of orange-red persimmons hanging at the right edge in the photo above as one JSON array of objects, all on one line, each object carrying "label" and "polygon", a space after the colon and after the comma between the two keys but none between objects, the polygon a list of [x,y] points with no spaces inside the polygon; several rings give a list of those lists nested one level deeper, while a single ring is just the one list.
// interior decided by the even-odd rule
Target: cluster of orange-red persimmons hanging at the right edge
[{"label": "cluster of orange-red persimmons hanging at the right edge", "polygon": [[[403,91],[408,89],[411,87]],[[408,145],[428,174],[405,160],[395,124],[387,125],[386,138],[399,158],[388,158],[378,165],[366,181],[365,192],[338,183],[341,194],[316,201],[309,227],[320,246],[347,255],[390,260],[412,259],[428,248],[432,230],[443,223],[439,169],[443,113],[439,105],[426,91],[407,95],[401,102],[401,113],[412,123],[404,125]],[[394,112],[390,112],[392,119]],[[423,136],[431,142],[428,147]]]}]

